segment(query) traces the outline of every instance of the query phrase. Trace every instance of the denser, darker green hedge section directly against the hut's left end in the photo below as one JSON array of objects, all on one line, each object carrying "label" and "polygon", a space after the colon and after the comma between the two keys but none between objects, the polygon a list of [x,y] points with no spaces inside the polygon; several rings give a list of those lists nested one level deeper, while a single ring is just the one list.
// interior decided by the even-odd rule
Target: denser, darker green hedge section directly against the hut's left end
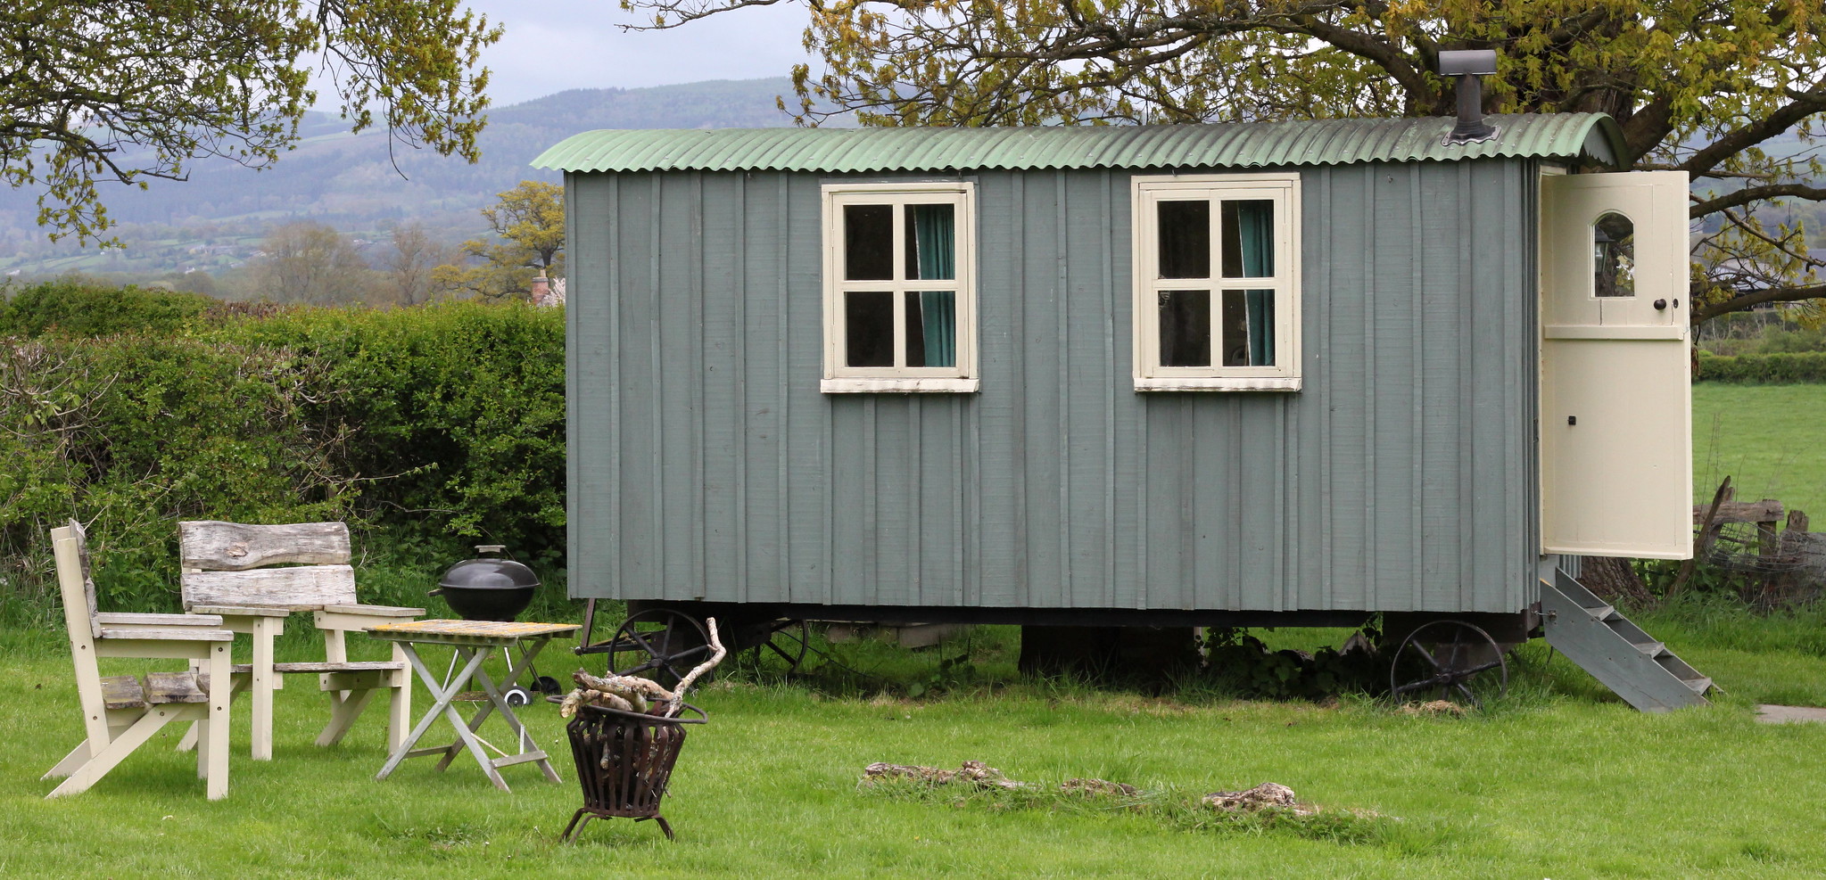
[{"label": "denser, darker green hedge section directly against the hut's left end", "polygon": [[338,460],[365,482],[376,524],[446,553],[489,539],[530,564],[562,564],[562,310],[307,309],[214,334],[283,345],[321,369],[307,411],[343,425]]}]

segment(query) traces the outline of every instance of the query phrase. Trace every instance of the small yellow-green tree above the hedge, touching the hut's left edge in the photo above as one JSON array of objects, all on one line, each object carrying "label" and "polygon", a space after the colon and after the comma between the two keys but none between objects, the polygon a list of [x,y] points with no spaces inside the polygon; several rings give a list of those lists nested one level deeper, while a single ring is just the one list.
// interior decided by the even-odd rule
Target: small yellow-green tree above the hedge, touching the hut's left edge
[{"label": "small yellow-green tree above the hedge, touching the hut's left edge", "polygon": [[533,279],[564,274],[564,188],[542,181],[520,181],[500,194],[500,201],[482,208],[495,239],[462,243],[469,267],[444,265],[431,270],[433,285],[489,299],[528,296]]}]

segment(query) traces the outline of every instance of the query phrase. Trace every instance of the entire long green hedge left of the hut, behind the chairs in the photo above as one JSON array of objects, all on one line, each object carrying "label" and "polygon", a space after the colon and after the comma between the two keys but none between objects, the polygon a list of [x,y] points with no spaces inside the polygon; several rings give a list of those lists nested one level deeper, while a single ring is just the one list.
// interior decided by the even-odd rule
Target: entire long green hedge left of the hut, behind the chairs
[{"label": "entire long green hedge left of the hut, behind the chairs", "polygon": [[[15,621],[51,608],[47,529],[68,517],[111,610],[175,608],[179,519],[343,519],[360,562],[431,573],[502,542],[562,581],[562,309],[212,309],[0,338],[0,425]],[[363,599],[424,604],[418,573],[393,581]]]}]

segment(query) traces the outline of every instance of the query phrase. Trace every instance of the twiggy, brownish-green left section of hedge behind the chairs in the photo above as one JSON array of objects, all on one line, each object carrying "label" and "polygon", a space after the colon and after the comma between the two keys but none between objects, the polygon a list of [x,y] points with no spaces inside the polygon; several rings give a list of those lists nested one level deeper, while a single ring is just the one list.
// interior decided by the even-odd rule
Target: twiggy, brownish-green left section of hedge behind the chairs
[{"label": "twiggy, brownish-green left section of hedge behind the chairs", "polygon": [[[310,367],[190,338],[0,340],[0,559],[27,602],[49,528],[89,524],[111,608],[175,608],[177,519],[338,519],[354,482],[301,418]],[[11,581],[11,579],[9,579]]]}]

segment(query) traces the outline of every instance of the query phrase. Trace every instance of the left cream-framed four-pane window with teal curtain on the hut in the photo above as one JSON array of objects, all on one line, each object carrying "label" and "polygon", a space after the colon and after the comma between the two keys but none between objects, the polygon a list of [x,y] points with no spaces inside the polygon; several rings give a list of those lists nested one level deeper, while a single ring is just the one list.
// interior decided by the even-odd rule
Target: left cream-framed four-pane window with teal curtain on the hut
[{"label": "left cream-framed four-pane window with teal curtain on the hut", "polygon": [[825,393],[977,391],[975,186],[824,186]]}]

